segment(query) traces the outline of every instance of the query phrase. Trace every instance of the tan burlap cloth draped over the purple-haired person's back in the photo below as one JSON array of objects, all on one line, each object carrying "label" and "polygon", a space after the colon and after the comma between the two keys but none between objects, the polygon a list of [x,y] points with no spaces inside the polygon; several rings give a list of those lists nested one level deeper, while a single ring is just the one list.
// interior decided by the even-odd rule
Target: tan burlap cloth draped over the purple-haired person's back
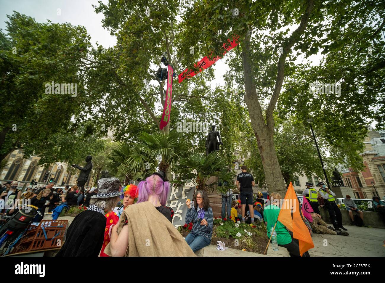
[{"label": "tan burlap cloth draped over the purple-haired person's back", "polygon": [[[118,233],[127,219],[129,230],[125,256],[196,256],[182,235],[149,201],[128,206],[122,213]],[[104,252],[111,255],[110,244]]]}]

